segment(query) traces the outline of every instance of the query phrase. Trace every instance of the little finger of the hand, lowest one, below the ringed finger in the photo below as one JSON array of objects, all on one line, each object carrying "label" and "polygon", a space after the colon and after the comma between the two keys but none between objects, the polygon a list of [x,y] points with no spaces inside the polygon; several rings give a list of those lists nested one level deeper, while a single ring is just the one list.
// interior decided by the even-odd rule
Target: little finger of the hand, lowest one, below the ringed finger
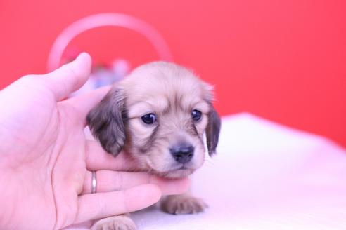
[{"label": "little finger of the hand, lowest one, below the ringed finger", "polygon": [[160,188],[143,184],[131,189],[79,196],[75,223],[134,212],[147,208],[161,198]]}]

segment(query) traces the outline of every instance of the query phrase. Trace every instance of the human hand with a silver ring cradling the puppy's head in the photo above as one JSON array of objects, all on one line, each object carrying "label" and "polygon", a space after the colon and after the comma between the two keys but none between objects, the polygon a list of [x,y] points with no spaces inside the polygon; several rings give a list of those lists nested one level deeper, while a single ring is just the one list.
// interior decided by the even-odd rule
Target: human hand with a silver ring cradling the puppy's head
[{"label": "human hand with a silver ring cradling the puppy's head", "polygon": [[[85,117],[109,88],[64,99],[87,81],[90,69],[91,58],[83,53],[0,91],[0,229],[61,229],[186,191],[186,179],[120,172],[134,163],[86,139]],[[98,193],[91,194],[94,170]]]}]

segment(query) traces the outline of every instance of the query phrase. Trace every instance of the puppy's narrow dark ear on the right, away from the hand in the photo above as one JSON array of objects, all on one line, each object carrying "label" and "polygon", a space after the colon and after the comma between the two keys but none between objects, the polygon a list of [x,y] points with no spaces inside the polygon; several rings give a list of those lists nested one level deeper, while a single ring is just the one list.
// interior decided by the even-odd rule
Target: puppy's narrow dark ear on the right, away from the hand
[{"label": "puppy's narrow dark ear on the right, away from the hand", "polygon": [[215,154],[217,143],[219,142],[219,133],[221,128],[221,120],[217,111],[210,105],[211,109],[208,115],[208,124],[205,133],[207,135],[207,147],[210,156]]}]

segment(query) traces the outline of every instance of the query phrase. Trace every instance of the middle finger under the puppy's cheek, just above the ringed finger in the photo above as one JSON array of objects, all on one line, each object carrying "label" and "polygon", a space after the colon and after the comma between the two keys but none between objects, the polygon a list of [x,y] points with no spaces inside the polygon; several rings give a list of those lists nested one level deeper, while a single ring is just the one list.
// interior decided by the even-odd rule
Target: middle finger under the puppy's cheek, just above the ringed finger
[{"label": "middle finger under the puppy's cheek, just above the ringed finger", "polygon": [[96,170],[136,170],[138,165],[129,157],[129,155],[122,151],[116,157],[108,154],[101,145],[93,140],[87,140],[86,144],[87,156],[87,169],[91,171]]}]

